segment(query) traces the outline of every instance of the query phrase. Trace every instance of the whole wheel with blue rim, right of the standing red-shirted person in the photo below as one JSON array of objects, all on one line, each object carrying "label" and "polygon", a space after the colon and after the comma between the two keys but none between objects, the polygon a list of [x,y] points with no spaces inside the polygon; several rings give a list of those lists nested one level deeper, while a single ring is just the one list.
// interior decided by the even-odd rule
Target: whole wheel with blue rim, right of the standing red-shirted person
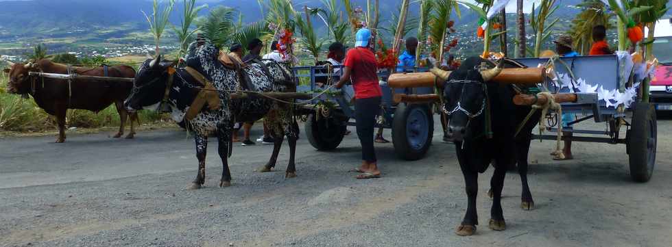
[{"label": "whole wheel with blue rim, right of the standing red-shirted person", "polygon": [[400,103],[392,121],[394,153],[405,160],[422,159],[434,135],[434,118],[429,106]]}]

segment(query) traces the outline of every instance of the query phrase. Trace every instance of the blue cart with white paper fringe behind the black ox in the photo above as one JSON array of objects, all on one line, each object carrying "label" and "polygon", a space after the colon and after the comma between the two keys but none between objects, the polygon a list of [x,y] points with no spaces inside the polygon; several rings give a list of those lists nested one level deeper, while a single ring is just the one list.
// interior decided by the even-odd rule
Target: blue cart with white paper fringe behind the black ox
[{"label": "blue cart with white paper fringe behind the black ox", "polygon": [[[598,87],[597,90],[601,94],[605,92],[625,93],[630,85],[638,82],[638,79],[634,78],[634,73],[631,73],[633,69],[629,68],[629,64],[632,64],[627,61],[629,59],[627,56],[619,58],[617,55],[561,57],[560,60],[564,64],[556,61],[554,68],[559,75],[568,75],[568,70],[571,70],[576,79],[582,79],[588,83],[587,85],[592,83],[592,86]],[[525,66],[537,67],[539,64],[546,64],[549,59],[523,58],[516,59],[516,61]],[[556,83],[549,79],[544,84],[551,92],[568,92],[569,90],[557,87]],[[635,92],[634,95],[638,94],[635,89],[636,87],[632,87],[629,92]],[[634,181],[649,181],[653,174],[653,166],[656,164],[657,125],[653,105],[640,102],[639,97],[635,96],[631,104],[614,107],[608,106],[603,98],[604,95],[600,96],[597,92],[577,92],[577,102],[562,103],[563,113],[584,116],[568,122],[569,127],[590,119],[595,122],[608,123],[608,128],[604,131],[563,129],[563,132],[573,133],[572,136],[563,136],[563,140],[625,144],[629,155],[630,176]],[[557,122],[560,124],[560,120]],[[623,128],[625,128],[625,137],[620,134]],[[557,133],[555,127],[549,127],[548,130]],[[556,140],[557,135],[534,135],[533,138]]]}]

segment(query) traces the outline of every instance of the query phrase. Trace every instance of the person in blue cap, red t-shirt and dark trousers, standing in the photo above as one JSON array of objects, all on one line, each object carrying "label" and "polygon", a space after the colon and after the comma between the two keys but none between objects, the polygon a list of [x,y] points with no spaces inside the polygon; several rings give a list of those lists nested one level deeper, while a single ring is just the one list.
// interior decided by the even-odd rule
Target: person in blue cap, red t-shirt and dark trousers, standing
[{"label": "person in blue cap, red t-shirt and dark trousers, standing", "polygon": [[348,51],[343,64],[343,75],[335,88],[342,88],[347,81],[352,81],[355,89],[355,120],[362,155],[361,166],[356,168],[357,172],[361,172],[357,179],[379,178],[381,171],[378,169],[374,150],[373,132],[376,116],[381,112],[383,92],[376,73],[376,56],[369,49],[371,31],[366,28],[359,29],[355,38],[355,49]]}]

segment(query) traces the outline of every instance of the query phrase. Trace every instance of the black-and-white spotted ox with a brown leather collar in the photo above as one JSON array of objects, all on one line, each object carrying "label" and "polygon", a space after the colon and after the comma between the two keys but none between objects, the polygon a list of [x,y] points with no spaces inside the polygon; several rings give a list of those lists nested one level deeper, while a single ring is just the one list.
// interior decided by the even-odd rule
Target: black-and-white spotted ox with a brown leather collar
[{"label": "black-and-white spotted ox with a brown leather collar", "polygon": [[[293,73],[287,65],[273,61],[251,63],[243,68],[241,79],[237,70],[226,68],[217,59],[219,51],[213,44],[202,45],[193,43],[189,46],[187,66],[200,72],[213,83],[219,95],[221,107],[209,109],[204,107],[193,120],[187,120],[187,127],[195,133],[196,157],[198,172],[191,184],[191,189],[198,189],[205,183],[205,158],[208,135],[215,134],[218,139],[218,152],[222,161],[223,172],[220,187],[231,185],[231,174],[228,157],[231,153],[231,131],[234,122],[248,122],[266,118],[272,135],[276,140],[274,150],[262,171],[271,170],[275,164],[285,136],[289,141],[289,164],[285,176],[296,177],[294,154],[298,139],[298,125],[292,115],[291,105],[278,103],[265,98],[230,99],[230,92],[246,88],[256,92],[283,92],[291,90]],[[186,120],[184,115],[202,86],[184,68],[173,70],[171,64],[160,62],[160,57],[147,60],[139,69],[134,83],[134,92],[125,101],[129,109],[138,110],[152,108],[162,102],[165,89],[172,77],[169,88],[168,105],[173,119],[177,122]],[[174,71],[174,73],[173,73]],[[272,112],[274,114],[269,114]]]}]

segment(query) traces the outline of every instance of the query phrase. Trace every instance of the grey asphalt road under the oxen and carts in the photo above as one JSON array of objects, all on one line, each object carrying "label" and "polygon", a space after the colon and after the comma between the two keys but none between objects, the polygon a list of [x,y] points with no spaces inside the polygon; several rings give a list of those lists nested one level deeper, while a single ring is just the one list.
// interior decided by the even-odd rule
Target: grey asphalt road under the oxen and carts
[{"label": "grey asphalt road under the oxen and carts", "polygon": [[0,246],[672,243],[671,120],[658,122],[658,162],[649,183],[629,179],[623,145],[575,143],[577,159],[553,161],[555,142],[533,142],[536,209],[520,209],[520,179],[509,173],[507,229],[488,229],[490,168],[479,177],[481,225],[472,237],[453,233],[466,194],[455,147],[441,143],[440,133],[420,161],[400,161],[392,144],[376,144],[383,178],[370,180],[348,172],[360,162],[354,134],[332,152],[315,151],[302,136],[295,179],[284,179],[287,146],[278,171],[263,174],[254,169],[272,146],[235,146],[233,185],[226,188],[217,187],[221,163],[211,138],[201,190],[184,190],[197,169],[193,139],[184,131],[142,132],[135,140],[107,135],[69,133],[64,144],[51,143],[52,136],[0,139]]}]

